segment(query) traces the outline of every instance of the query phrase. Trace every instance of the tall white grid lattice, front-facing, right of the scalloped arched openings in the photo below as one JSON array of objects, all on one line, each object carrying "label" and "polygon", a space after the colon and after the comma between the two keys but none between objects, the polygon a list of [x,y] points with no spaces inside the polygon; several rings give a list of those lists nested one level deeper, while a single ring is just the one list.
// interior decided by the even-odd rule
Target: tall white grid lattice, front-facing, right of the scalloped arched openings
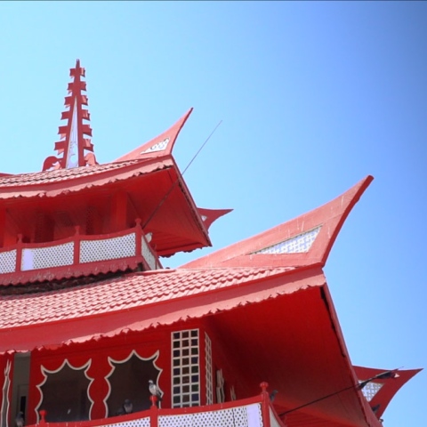
[{"label": "tall white grid lattice, front-facing, right of the scalloped arched openings", "polygon": [[172,333],[172,407],[200,405],[198,329]]}]

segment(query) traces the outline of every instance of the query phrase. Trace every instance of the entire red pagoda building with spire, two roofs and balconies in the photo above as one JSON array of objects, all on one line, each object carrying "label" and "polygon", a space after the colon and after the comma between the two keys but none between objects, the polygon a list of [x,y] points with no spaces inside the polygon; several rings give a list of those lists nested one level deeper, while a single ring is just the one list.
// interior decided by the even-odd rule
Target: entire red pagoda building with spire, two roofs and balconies
[{"label": "entire red pagoda building with spire, two roofs and balconies", "polygon": [[100,165],[70,77],[56,155],[0,174],[1,427],[382,426],[419,369],[351,364],[323,271],[373,178],[167,269],[230,212],[197,207],[173,158],[191,109]]}]

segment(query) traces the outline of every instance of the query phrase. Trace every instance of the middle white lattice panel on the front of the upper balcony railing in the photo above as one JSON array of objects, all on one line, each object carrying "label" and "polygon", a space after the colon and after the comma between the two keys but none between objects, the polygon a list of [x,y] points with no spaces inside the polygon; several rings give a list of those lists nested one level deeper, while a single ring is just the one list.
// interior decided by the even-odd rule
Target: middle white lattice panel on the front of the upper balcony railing
[{"label": "middle white lattice panel on the front of the upper balcony railing", "polygon": [[63,245],[22,249],[20,270],[38,270],[61,265],[72,265],[74,242]]}]

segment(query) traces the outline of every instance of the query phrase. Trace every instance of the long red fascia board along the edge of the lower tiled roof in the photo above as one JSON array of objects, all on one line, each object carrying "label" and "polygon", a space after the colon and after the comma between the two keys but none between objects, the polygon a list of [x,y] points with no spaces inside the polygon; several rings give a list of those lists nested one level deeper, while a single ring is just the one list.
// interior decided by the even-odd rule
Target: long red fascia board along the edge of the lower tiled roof
[{"label": "long red fascia board along the edge of the lower tiled roof", "polygon": [[[172,271],[150,271],[144,275],[174,274]],[[281,273],[245,284],[201,290],[180,298],[160,299],[133,308],[111,310],[101,314],[45,321],[28,326],[0,329],[0,352],[33,350],[73,342],[88,342],[150,327],[172,325],[181,320],[202,318],[224,310],[275,298],[311,286],[323,286],[326,279],[321,269],[281,270]],[[213,297],[214,295],[214,297]],[[35,294],[35,298],[39,295]]]}]

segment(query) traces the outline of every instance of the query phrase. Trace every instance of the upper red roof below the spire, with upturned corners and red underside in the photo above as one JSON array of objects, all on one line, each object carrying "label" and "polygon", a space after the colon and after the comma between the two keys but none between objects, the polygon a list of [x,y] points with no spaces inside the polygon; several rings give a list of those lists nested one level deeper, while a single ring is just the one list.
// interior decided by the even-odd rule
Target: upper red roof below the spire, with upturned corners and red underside
[{"label": "upper red roof below the spire, with upturned corners and red underside", "polygon": [[[133,209],[132,222],[140,218],[144,233],[153,233],[151,245],[159,256],[211,246],[207,232],[209,226],[230,210],[198,208],[171,153],[190,112],[135,153],[113,163],[0,176],[0,203],[2,200],[4,203],[13,202],[11,212],[14,221],[11,226],[35,222],[28,215],[34,215],[41,206],[39,204],[43,203],[49,205],[47,210],[57,228],[66,230],[67,225],[61,223],[61,214],[55,214],[64,210],[64,204],[69,205],[70,220],[67,222],[78,223],[85,212],[85,204],[98,203],[101,209],[105,209],[109,197],[123,191],[125,186]],[[168,143],[159,144],[165,139]],[[71,196],[77,198],[68,198]],[[25,200],[35,207],[21,207]],[[9,231],[11,235],[13,232],[14,229]],[[61,238],[68,236],[66,233]]]}]

